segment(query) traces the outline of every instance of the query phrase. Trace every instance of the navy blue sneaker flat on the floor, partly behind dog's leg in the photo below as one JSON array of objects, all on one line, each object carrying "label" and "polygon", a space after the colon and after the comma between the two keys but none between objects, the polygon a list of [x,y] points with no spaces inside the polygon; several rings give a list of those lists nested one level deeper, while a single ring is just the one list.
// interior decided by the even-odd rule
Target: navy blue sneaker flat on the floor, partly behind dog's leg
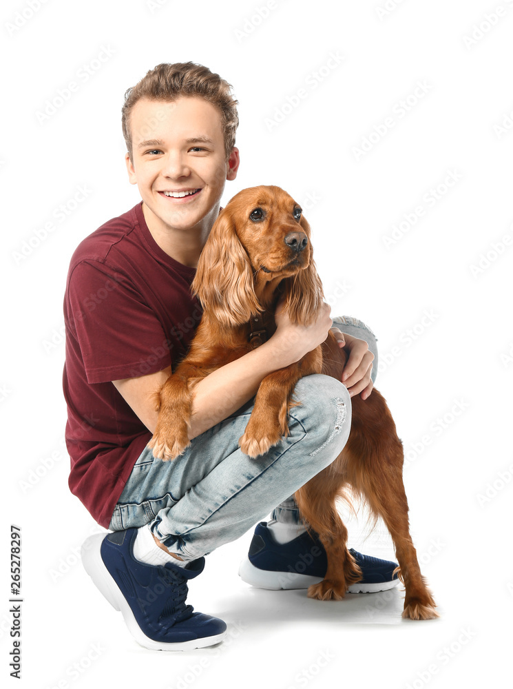
[{"label": "navy blue sneaker flat on the floor, partly behind dog's leg", "polygon": [[[396,562],[362,555],[350,548],[351,555],[362,570],[363,578],[348,588],[348,593],[377,593],[399,583],[394,570]],[[260,522],[249,546],[249,553],[240,563],[239,576],[243,582],[256,588],[289,589],[308,588],[324,579],[328,560],[317,535],[304,531],[289,543],[278,544]]]}]

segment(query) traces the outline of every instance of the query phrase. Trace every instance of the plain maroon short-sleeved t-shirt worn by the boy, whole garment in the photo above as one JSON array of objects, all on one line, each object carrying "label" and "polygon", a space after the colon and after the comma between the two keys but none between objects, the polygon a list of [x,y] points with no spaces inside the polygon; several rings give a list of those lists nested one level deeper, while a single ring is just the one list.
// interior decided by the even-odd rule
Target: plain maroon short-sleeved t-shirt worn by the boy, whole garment
[{"label": "plain maroon short-sleeved t-shirt worn by the boy, whole garment", "polygon": [[141,203],[78,245],[64,299],[69,485],[105,526],[151,433],[112,380],[172,367],[201,318],[196,269],[158,247]]}]

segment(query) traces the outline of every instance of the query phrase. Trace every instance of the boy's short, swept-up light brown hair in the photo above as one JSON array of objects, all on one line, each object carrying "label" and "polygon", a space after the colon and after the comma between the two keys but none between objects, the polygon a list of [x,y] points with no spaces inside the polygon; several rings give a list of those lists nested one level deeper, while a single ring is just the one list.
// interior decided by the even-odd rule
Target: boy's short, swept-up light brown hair
[{"label": "boy's short, swept-up light brown hair", "polygon": [[132,134],[130,113],[141,98],[172,102],[180,96],[200,96],[216,105],[222,116],[224,151],[228,159],[235,145],[235,131],[239,124],[238,103],[231,95],[231,84],[213,74],[209,68],[193,62],[162,63],[149,70],[133,88],[125,92],[125,103],[121,110],[121,125],[132,163]]}]

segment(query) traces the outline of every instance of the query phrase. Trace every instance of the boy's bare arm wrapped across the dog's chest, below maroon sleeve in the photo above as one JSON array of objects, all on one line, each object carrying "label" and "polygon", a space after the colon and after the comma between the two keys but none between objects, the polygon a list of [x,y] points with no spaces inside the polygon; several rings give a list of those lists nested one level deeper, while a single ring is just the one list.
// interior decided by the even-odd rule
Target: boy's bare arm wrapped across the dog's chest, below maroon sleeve
[{"label": "boy's bare arm wrapped across the dog's chest, below maroon sleeve", "polygon": [[[194,389],[189,440],[226,419],[251,400],[269,373],[300,360],[307,351],[324,342],[332,325],[329,311],[328,305],[324,305],[319,318],[308,327],[293,325],[285,314],[277,313],[276,332],[267,342],[202,378]],[[151,433],[155,431],[158,418],[155,393],[167,380],[169,371],[167,368],[148,376],[113,381]]]}]

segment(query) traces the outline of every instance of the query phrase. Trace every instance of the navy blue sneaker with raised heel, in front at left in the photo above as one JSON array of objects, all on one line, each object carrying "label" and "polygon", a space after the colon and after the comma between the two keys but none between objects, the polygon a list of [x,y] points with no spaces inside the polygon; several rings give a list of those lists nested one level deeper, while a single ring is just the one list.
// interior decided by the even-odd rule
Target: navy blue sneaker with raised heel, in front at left
[{"label": "navy blue sneaker with raised heel, in front at left", "polygon": [[227,626],[217,617],[193,613],[185,604],[187,580],[205,567],[205,557],[187,568],[153,566],[134,558],[136,528],[96,533],[82,546],[82,562],[101,593],[123,618],[136,641],[152,650],[188,650],[222,641]]}]

